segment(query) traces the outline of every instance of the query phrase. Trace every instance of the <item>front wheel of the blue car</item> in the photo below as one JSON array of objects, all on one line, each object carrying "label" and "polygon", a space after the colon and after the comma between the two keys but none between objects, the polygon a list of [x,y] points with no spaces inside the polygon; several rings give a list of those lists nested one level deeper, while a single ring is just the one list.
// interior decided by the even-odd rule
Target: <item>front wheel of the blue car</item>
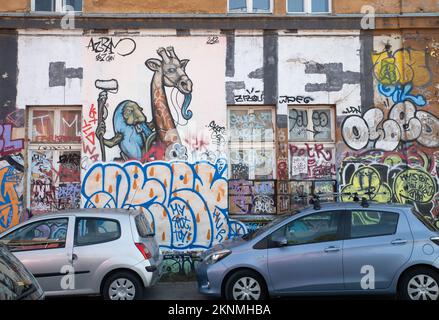
[{"label": "front wheel of the blue car", "polygon": [[225,285],[227,300],[265,300],[267,296],[264,279],[251,270],[235,272]]}]

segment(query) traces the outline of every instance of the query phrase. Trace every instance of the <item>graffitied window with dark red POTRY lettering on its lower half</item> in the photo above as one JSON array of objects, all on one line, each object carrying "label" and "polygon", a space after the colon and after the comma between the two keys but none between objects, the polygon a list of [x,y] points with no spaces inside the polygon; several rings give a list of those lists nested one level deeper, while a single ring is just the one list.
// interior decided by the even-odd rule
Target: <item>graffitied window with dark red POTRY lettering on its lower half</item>
[{"label": "graffitied window with dark red POTRY lettering on its lower half", "polygon": [[290,179],[335,178],[334,123],[334,109],[330,107],[289,109]]}]

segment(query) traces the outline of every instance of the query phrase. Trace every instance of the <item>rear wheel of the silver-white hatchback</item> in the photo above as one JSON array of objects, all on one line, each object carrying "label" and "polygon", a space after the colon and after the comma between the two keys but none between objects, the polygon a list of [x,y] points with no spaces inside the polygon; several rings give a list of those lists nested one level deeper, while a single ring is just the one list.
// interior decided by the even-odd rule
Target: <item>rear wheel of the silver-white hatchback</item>
[{"label": "rear wheel of the silver-white hatchback", "polygon": [[105,300],[139,300],[143,296],[143,285],[133,273],[121,271],[105,280],[102,295]]}]

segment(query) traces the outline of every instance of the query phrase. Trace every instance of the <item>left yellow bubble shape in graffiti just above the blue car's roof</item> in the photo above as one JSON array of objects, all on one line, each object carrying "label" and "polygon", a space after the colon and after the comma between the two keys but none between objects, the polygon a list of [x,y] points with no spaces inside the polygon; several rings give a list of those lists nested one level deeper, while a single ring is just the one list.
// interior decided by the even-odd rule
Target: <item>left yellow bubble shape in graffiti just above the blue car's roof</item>
[{"label": "left yellow bubble shape in graffiti just above the blue car's roof", "polygon": [[341,201],[352,201],[352,195],[377,202],[389,202],[392,191],[387,183],[381,181],[379,172],[372,167],[362,167],[352,176],[348,185],[341,190]]}]

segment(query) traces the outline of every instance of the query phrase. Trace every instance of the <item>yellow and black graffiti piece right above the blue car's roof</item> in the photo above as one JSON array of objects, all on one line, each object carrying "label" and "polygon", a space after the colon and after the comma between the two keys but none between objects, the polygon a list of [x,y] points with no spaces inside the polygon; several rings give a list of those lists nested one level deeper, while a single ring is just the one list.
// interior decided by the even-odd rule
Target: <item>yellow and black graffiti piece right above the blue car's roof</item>
[{"label": "yellow and black graffiti piece right above the blue car's roof", "polygon": [[424,213],[433,213],[438,192],[434,161],[414,146],[402,152],[368,150],[347,156],[340,182],[342,201],[352,201],[357,193],[378,202],[413,204]]}]

